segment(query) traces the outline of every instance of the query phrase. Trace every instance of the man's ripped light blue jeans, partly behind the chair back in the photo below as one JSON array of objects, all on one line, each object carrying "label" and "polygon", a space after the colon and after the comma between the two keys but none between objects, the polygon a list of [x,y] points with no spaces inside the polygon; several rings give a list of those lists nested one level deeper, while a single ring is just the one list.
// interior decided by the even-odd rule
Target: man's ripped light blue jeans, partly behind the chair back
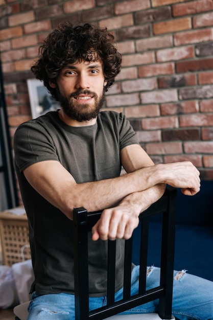
[{"label": "man's ripped light blue jeans, partly behind the chair back", "polygon": [[[148,267],[147,289],[159,285],[160,268]],[[139,266],[132,271],[131,294],[138,292]],[[121,300],[123,289],[115,294]],[[106,305],[106,297],[89,298],[89,309]],[[124,313],[157,312],[158,300],[146,303]],[[74,320],[75,296],[68,293],[36,295],[32,294],[28,320]],[[184,270],[174,271],[173,315],[180,320],[213,320],[213,282],[192,276]]]}]

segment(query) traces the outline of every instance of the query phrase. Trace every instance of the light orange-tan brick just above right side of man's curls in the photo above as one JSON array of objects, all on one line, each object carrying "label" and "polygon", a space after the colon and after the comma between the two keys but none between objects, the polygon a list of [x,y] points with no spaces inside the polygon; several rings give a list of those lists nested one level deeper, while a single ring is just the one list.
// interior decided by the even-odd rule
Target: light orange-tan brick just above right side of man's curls
[{"label": "light orange-tan brick just above right side of man's curls", "polygon": [[103,19],[99,21],[99,26],[101,28],[107,27],[108,30],[115,30],[133,25],[134,21],[132,14],[125,14],[122,16],[116,16],[110,19]]}]

